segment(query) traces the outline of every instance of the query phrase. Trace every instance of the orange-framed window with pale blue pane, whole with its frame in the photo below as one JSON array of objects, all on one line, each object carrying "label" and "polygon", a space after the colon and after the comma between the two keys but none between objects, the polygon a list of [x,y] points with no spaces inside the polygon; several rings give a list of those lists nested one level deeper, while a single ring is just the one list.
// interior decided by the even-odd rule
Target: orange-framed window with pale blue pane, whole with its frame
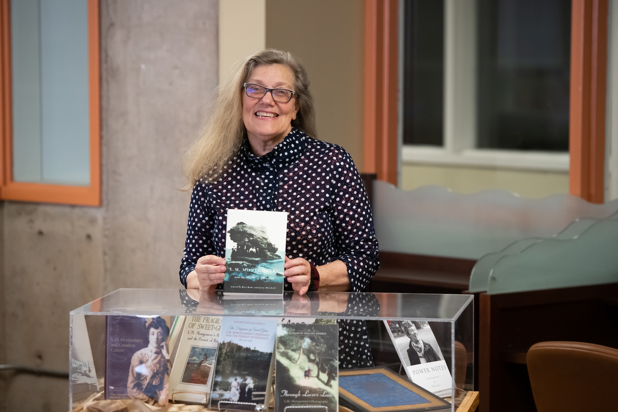
[{"label": "orange-framed window with pale blue pane, whole with its frame", "polygon": [[99,205],[98,1],[1,7],[1,197]]}]

